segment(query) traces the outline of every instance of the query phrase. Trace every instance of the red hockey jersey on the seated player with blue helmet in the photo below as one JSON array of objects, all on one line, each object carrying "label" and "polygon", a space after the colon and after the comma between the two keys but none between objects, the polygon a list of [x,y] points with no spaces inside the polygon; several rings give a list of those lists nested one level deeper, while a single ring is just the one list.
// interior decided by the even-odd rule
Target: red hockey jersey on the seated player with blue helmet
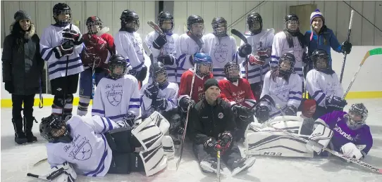
[{"label": "red hockey jersey on the seated player with blue helmet", "polygon": [[[191,84],[192,84],[192,75],[194,74],[194,70],[187,70],[182,74],[180,78],[180,86],[179,86],[179,98],[180,96],[190,96]],[[192,91],[191,99],[198,103],[200,100],[204,98],[204,82],[207,79],[213,78],[212,73],[209,74],[209,77],[199,77],[195,75],[194,88]]]}]

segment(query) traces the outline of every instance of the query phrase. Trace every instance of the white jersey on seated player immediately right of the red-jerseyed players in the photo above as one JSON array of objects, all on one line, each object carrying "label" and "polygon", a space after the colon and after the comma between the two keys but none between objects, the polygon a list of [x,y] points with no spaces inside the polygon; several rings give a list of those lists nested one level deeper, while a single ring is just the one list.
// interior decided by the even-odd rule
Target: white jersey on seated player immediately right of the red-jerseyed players
[{"label": "white jersey on seated player immediately right of the red-jerseyed players", "polygon": [[[294,105],[298,108],[302,99],[301,89],[302,81],[297,74],[290,74],[289,82],[286,82],[282,77],[276,77],[276,82],[274,82],[271,78],[271,72],[267,72],[264,77],[264,86],[260,98],[264,95],[269,95],[279,108],[283,108],[286,105]],[[266,104],[261,102],[260,105]],[[269,117],[281,115],[281,112],[277,108],[269,107],[269,110],[271,110]]]}]

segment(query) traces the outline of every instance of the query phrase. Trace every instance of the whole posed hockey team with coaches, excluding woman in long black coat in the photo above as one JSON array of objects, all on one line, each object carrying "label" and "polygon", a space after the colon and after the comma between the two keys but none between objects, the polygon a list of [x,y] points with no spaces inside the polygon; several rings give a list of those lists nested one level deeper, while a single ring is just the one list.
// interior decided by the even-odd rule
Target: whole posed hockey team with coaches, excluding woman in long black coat
[{"label": "whole posed hockey team with coaches, excluding woman in long black coat", "polygon": [[[273,135],[261,125],[275,117],[297,117],[297,110],[304,119],[298,130],[305,128],[305,135],[323,148],[357,160],[371,148],[365,106],[355,104],[343,112],[347,102],[331,69],[330,48],[350,53],[352,44],[340,45],[319,11],[312,13],[312,30],[305,35],[295,14],[286,15],[284,30],[274,34],[263,29],[259,13],[250,13],[247,43],[242,41],[239,48],[222,17],[214,18],[214,31],[204,35],[203,18],[190,15],[187,32],[178,36],[173,15],[161,12],[157,23],[163,34],[153,31],[142,41],[139,15],[131,10],[122,12],[121,29],[113,37],[96,16],[87,18],[88,32],[81,34],[70,23],[67,4],[56,4],[53,14],[56,23],[44,29],[39,41],[54,95],[52,114],[42,119],[39,131],[49,141],[53,172],[64,171],[51,181],[75,181],[78,173],[144,171],[151,176],[166,167],[185,134],[202,171],[220,169],[220,151],[235,175],[255,161],[242,158],[237,143],[243,139],[251,145],[248,153],[263,143],[281,145],[260,141],[264,133]],[[151,51],[149,68],[143,44]],[[147,74],[149,82],[143,84]],[[72,116],[78,80],[80,101]],[[305,90],[312,99],[302,98]],[[92,117],[85,117],[91,99]],[[294,145],[286,147],[297,151]],[[309,146],[304,152],[324,153]],[[273,149],[269,151],[281,153]]]}]

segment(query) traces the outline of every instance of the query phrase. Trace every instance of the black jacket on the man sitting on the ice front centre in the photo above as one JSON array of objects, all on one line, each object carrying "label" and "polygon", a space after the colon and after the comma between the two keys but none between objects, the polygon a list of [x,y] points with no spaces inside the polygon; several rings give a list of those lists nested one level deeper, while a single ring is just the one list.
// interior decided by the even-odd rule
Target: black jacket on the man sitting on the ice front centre
[{"label": "black jacket on the man sitting on the ice front centre", "polygon": [[195,144],[202,144],[210,137],[218,138],[223,131],[234,134],[236,125],[230,104],[218,98],[216,105],[212,106],[204,98],[190,110],[192,134]]}]

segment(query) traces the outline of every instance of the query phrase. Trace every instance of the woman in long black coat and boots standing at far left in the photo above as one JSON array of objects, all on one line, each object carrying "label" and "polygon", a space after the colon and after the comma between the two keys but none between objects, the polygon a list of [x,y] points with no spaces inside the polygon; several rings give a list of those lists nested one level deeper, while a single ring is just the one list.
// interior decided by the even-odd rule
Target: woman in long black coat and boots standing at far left
[{"label": "woman in long black coat and boots standing at far left", "polygon": [[[25,11],[18,11],[14,18],[11,34],[4,39],[1,60],[4,87],[12,94],[15,141],[23,144],[37,141],[32,134],[33,122],[36,120],[33,117],[33,104],[35,93],[39,91],[44,60],[39,53],[39,37],[35,34],[35,25],[31,23],[30,15]],[[22,110],[24,117],[21,117]]]}]

